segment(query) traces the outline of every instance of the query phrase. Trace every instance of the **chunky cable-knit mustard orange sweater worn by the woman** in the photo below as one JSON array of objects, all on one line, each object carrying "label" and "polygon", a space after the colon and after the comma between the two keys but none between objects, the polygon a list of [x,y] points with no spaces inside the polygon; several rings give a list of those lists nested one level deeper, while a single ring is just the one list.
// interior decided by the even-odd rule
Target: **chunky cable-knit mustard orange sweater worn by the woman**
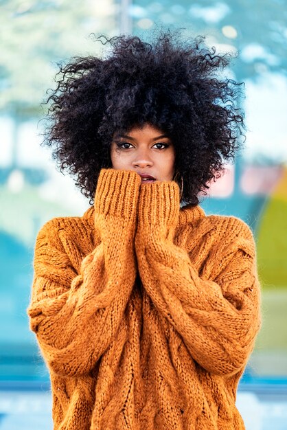
[{"label": "chunky cable-knit mustard orange sweater worn by the woman", "polygon": [[39,232],[28,313],[55,430],[244,429],[255,242],[239,218],[180,209],[174,181],[102,169],[93,207]]}]

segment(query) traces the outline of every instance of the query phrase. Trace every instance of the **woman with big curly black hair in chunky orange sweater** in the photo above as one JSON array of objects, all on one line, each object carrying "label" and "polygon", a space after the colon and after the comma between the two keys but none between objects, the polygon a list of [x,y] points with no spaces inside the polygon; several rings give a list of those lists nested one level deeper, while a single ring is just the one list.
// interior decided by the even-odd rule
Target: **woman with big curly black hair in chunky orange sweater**
[{"label": "woman with big curly black hair in chunky orange sweater", "polygon": [[198,205],[239,148],[240,86],[200,38],[109,43],[63,68],[50,97],[46,142],[91,198],[36,240],[28,313],[54,429],[244,429],[255,243],[242,220]]}]

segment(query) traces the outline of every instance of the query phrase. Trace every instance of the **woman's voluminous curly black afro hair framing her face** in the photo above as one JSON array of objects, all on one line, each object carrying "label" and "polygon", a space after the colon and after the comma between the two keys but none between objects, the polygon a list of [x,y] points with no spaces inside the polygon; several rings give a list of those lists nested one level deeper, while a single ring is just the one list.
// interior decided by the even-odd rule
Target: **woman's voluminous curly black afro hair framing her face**
[{"label": "woman's voluminous curly black afro hair framing her face", "polygon": [[203,36],[182,40],[179,30],[160,32],[151,43],[126,35],[96,40],[111,48],[106,58],[60,65],[43,144],[92,204],[100,170],[112,167],[114,133],[151,124],[172,139],[182,201],[197,205],[241,146],[242,84],[221,73],[231,56],[216,54]]}]

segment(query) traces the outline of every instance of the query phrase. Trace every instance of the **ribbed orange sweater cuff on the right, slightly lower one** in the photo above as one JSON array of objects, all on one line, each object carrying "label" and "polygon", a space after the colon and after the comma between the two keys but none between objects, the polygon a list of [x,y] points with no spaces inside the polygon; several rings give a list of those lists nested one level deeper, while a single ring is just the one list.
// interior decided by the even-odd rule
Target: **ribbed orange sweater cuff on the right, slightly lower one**
[{"label": "ribbed orange sweater cuff on the right, slightly lower one", "polygon": [[141,185],[139,191],[139,227],[176,226],[179,210],[179,185],[174,181],[157,181]]}]

